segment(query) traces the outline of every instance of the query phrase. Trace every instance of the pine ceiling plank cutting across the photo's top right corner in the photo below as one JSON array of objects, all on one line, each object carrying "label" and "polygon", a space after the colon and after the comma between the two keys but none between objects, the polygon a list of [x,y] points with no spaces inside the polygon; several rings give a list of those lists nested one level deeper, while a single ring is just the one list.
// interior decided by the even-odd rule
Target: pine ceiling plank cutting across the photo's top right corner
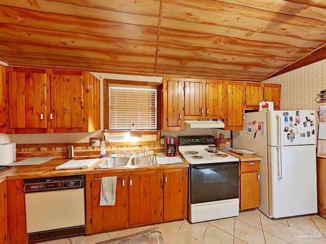
[{"label": "pine ceiling plank cutting across the photo's top right corner", "polygon": [[[301,17],[307,17],[317,20],[326,20],[326,4],[313,6],[311,1],[284,1],[284,0],[273,0],[273,1],[252,1],[252,0],[222,0],[229,4],[243,5],[254,9],[261,9],[271,11],[275,13],[289,14]],[[323,1],[324,2],[324,1]]]}]

